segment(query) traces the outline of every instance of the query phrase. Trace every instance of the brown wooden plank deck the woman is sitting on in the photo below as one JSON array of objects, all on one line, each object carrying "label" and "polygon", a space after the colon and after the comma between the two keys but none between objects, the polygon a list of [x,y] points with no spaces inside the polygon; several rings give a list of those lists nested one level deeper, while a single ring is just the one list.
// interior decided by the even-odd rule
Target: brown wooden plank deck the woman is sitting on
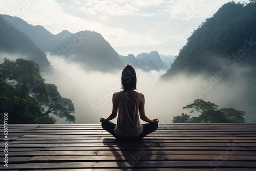
[{"label": "brown wooden plank deck the woman is sitting on", "polygon": [[256,123],[160,124],[137,142],[100,124],[13,124],[7,153],[0,127],[0,170],[256,170]]}]

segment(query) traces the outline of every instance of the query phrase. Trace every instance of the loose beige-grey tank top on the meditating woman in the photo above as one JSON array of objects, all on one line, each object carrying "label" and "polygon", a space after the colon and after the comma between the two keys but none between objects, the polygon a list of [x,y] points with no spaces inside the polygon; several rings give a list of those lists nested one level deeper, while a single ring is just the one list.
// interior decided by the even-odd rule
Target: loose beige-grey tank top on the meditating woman
[{"label": "loose beige-grey tank top on the meditating woman", "polygon": [[139,121],[139,108],[137,105],[138,92],[126,95],[119,92],[119,106],[115,133],[119,137],[136,137],[143,132]]}]

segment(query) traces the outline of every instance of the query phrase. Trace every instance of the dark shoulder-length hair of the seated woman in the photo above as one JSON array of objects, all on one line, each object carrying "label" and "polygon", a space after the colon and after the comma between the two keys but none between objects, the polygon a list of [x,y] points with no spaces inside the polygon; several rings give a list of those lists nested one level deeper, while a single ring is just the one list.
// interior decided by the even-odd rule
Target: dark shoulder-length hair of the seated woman
[{"label": "dark shoulder-length hair of the seated woman", "polygon": [[124,67],[121,77],[123,90],[136,90],[137,77],[134,68],[130,65]]}]

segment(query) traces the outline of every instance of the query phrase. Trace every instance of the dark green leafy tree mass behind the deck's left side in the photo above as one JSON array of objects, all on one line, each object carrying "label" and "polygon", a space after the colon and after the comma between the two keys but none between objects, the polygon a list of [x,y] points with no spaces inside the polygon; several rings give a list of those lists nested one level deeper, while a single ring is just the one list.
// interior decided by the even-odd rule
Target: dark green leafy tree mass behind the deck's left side
[{"label": "dark green leafy tree mass behind the deck's left side", "polygon": [[0,72],[0,109],[8,112],[9,123],[55,123],[49,114],[75,122],[72,101],[44,82],[34,61],[5,58]]}]

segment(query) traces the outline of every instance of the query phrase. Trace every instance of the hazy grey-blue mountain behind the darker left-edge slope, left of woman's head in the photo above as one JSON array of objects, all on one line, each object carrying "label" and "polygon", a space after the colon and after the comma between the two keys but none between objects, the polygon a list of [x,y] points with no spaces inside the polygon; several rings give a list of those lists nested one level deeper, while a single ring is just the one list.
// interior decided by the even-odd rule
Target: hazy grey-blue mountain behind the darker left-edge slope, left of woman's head
[{"label": "hazy grey-blue mountain behind the darker left-edge slope, left of woman's head", "polygon": [[44,27],[30,25],[21,18],[2,16],[9,26],[25,33],[41,50],[65,55],[69,60],[81,63],[84,69],[112,71],[123,67],[117,52],[99,33],[80,31],[73,34],[63,30],[54,35]]}]

